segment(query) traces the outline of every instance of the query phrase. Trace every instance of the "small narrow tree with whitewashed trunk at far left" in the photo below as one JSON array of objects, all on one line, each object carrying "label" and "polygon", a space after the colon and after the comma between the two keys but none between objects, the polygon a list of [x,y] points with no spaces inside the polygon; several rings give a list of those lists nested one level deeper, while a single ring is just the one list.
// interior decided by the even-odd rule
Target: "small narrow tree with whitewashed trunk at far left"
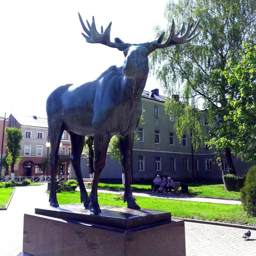
[{"label": "small narrow tree with whitewashed trunk at far left", "polygon": [[6,148],[8,150],[8,155],[6,157],[6,162],[9,167],[11,167],[11,180],[14,181],[14,164],[19,163],[22,159],[20,155],[20,147],[22,140],[21,129],[15,127],[6,127]]}]

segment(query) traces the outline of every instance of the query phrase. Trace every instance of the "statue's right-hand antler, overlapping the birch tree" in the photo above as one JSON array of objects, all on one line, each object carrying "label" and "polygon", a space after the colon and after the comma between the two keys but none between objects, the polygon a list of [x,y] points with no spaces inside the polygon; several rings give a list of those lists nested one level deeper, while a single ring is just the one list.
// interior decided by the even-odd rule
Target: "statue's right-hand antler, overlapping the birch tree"
[{"label": "statue's right-hand antler, overlapping the birch tree", "polygon": [[[157,48],[166,48],[166,47],[174,45],[174,44],[185,44],[185,43],[190,42],[192,39],[194,39],[196,36],[198,36],[200,34],[200,31],[199,31],[196,35],[194,35],[196,32],[196,29],[199,26],[200,20],[201,20],[201,18],[199,18],[197,20],[196,26],[194,27],[194,29],[192,31],[191,31],[191,29],[194,26],[194,21],[190,25],[188,24],[187,31],[185,32],[184,35],[182,35],[184,32],[184,28],[185,28],[185,23],[183,21],[180,30],[175,35],[175,24],[174,24],[174,20],[172,19],[172,27],[171,27],[171,31],[170,31],[170,34],[169,34],[167,40],[163,44],[156,43],[156,49]],[[159,36],[159,38],[163,38],[164,34],[165,34],[165,32],[163,32],[162,35]],[[152,43],[155,43],[155,42],[152,42]]]}]

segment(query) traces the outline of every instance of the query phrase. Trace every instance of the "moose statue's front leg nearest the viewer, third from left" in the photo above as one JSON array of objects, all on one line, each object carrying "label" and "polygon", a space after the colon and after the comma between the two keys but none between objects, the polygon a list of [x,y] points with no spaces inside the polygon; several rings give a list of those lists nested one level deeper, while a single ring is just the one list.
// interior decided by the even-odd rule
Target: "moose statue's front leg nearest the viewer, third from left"
[{"label": "moose statue's front leg nearest the viewer, third from left", "polygon": [[92,191],[89,196],[90,204],[89,209],[90,212],[99,213],[100,206],[98,203],[98,183],[100,178],[100,173],[102,172],[105,166],[105,160],[107,155],[108,143],[111,136],[108,134],[94,134],[94,177],[92,183]]}]

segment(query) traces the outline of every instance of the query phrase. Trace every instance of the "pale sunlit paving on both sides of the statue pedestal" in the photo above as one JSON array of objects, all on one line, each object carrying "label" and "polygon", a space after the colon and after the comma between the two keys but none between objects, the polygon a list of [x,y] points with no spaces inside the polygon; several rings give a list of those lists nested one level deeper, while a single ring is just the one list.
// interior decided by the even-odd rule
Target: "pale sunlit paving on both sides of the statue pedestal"
[{"label": "pale sunlit paving on both sides of the statue pedestal", "polygon": [[[8,209],[0,211],[1,256],[17,256],[22,251],[23,214],[34,212],[38,204],[48,205],[45,190],[46,185],[17,187]],[[245,231],[242,228],[185,222],[187,256],[255,256],[256,231],[251,230],[252,239],[249,241],[242,238]]]}]

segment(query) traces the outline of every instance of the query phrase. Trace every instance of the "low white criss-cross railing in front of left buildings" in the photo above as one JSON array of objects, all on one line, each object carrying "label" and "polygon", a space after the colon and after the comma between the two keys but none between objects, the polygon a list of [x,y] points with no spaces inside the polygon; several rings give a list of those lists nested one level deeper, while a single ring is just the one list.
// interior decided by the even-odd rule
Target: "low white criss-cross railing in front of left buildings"
[{"label": "low white criss-cross railing in front of left buildings", "polygon": [[[22,182],[23,180],[30,180],[32,183],[42,183],[42,182],[51,182],[51,176],[15,176],[14,181],[15,182]],[[62,175],[57,175],[55,176],[56,181],[67,181],[70,179],[69,175],[62,176]],[[11,180],[11,176],[1,176],[0,182],[8,182]]]}]

